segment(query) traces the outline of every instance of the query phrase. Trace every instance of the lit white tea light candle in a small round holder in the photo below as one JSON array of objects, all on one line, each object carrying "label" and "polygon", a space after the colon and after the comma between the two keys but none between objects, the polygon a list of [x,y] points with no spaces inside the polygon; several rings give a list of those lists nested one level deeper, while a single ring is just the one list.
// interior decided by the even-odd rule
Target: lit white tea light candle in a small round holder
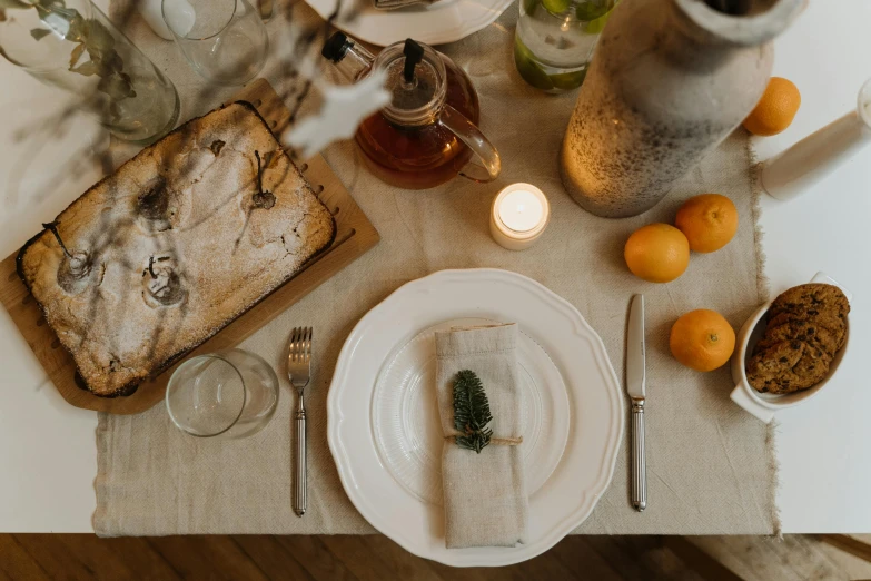
[{"label": "lit white tea light candle in a small round holder", "polygon": [[509,250],[523,250],[538,239],[551,219],[551,205],[532,184],[512,184],[493,200],[489,232]]}]

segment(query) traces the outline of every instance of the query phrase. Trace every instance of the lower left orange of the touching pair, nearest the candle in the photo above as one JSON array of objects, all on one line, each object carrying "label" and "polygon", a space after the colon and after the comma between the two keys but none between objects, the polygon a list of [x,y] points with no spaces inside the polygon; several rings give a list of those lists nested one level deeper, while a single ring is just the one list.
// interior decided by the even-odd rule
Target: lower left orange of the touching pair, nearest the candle
[{"label": "lower left orange of the touching pair, nearest the candle", "polygon": [[667,224],[649,224],[632,233],[623,257],[632,274],[649,283],[669,283],[686,270],[690,243]]}]

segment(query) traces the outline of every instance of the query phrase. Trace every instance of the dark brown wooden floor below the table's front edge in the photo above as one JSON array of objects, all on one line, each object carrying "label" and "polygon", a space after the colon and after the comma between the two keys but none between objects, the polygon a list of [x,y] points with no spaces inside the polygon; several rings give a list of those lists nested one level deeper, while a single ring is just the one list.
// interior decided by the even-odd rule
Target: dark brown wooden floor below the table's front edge
[{"label": "dark brown wooden floor below the table's front edge", "polygon": [[[696,548],[728,569],[716,564],[697,568],[686,552]],[[97,539],[87,534],[0,534],[0,579],[792,581],[871,579],[871,564],[808,536],[783,541],[568,536],[525,563],[453,569],[413,557],[375,535]]]}]

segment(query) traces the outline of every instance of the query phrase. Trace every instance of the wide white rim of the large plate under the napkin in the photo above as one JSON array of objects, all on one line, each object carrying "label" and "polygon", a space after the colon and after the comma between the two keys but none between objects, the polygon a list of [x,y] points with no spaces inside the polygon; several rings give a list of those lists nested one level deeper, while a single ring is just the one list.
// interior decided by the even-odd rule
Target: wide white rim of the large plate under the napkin
[{"label": "wide white rim of the large plate under the napkin", "polygon": [[[445,290],[447,289],[449,293],[451,285],[468,290],[466,287],[469,283],[473,286],[483,284],[489,290],[489,293],[482,294],[487,298],[481,298],[478,306],[456,305],[449,301],[447,306],[433,303],[434,296],[437,299],[443,299],[447,294]],[[502,289],[507,289],[507,294],[504,292],[493,293],[495,289],[493,285],[499,284],[508,285]],[[433,287],[439,285],[442,285],[439,292],[433,294]],[[512,293],[515,293],[514,297],[509,296]],[[426,312],[418,308],[418,315],[413,322],[404,322],[402,316],[390,313],[397,303],[400,307],[408,306],[403,302],[414,301],[422,294],[427,295],[430,301],[427,305],[430,308]],[[554,476],[537,495],[529,500],[531,539],[527,544],[519,544],[515,548],[486,546],[447,550],[444,548],[443,536],[439,536],[444,534],[444,523],[441,519],[432,518],[434,515],[433,505],[408,496],[407,491],[390,476],[377,459],[375,450],[377,446],[372,441],[369,407],[375,381],[385,362],[365,358],[366,351],[374,349],[378,352],[378,357],[386,357],[398,342],[410,339],[416,332],[423,328],[422,325],[430,324],[439,317],[442,319],[465,316],[505,318],[504,315],[497,316],[494,313],[499,308],[511,308],[516,312],[517,305],[508,303],[521,295],[525,295],[526,301],[529,296],[538,301],[537,305],[533,305],[537,307],[538,313],[531,321],[537,323],[545,313],[551,317],[547,322],[547,335],[538,335],[537,339],[543,343],[542,346],[551,353],[557,363],[565,384],[572,393],[573,418],[578,418],[578,421],[572,427],[566,453],[563,454]],[[467,294],[463,294],[463,297],[467,296]],[[507,303],[505,303],[506,296],[508,297]],[[455,311],[453,313],[443,312],[445,309]],[[531,307],[524,304],[522,308],[524,313],[515,317],[518,323],[524,317],[532,316],[526,314],[527,309]],[[420,321],[420,317],[424,317],[424,321]],[[372,325],[385,325],[385,322],[388,322],[386,323],[387,328],[384,326],[377,328],[380,332],[378,339],[369,338],[366,342],[366,335],[372,331]],[[522,328],[534,328],[536,323],[526,326],[522,324]],[[402,335],[392,337],[387,335],[388,332],[402,333]],[[533,334],[535,335],[535,333]],[[557,335],[558,339],[552,339],[551,334]],[[573,339],[574,343],[572,343]],[[393,343],[385,347],[378,345],[378,341]],[[576,351],[580,347],[585,347],[588,352]],[[382,354],[383,349],[386,352]],[[595,366],[592,372],[584,370],[584,365],[588,363],[593,363]],[[355,371],[354,365],[364,365],[367,375],[360,376],[356,373],[352,375],[352,372]],[[372,372],[372,377],[368,376],[369,372]],[[591,377],[591,373],[596,375]],[[596,383],[597,385],[594,385]],[[346,403],[345,407],[350,404],[357,405],[357,407],[353,407],[353,414],[343,413],[342,397],[350,400],[350,403]],[[366,408],[363,408],[364,406]],[[604,415],[601,413],[603,406],[606,407]],[[611,483],[624,425],[624,402],[620,382],[611,366],[602,339],[584,321],[581,313],[568,302],[531,278],[507,270],[488,268],[434,273],[403,285],[369,311],[354,327],[342,348],[327,396],[327,440],[330,453],[335,460],[342,484],[355,508],[373,526],[410,553],[453,567],[498,567],[532,559],[551,549],[584,522]],[[580,421],[582,416],[586,416],[586,420]],[[343,432],[356,432],[348,434],[356,437],[349,437],[347,442],[344,442]],[[368,437],[368,442],[364,442],[366,437]],[[348,447],[354,449],[356,453],[354,456],[348,454]],[[372,465],[366,464],[367,456],[370,456],[369,460],[374,460]],[[584,465],[585,462],[586,465]],[[386,491],[380,488],[383,485],[392,490]],[[548,491],[553,494],[546,494]],[[390,493],[402,493],[408,498],[396,500],[396,498],[389,496]],[[561,494],[560,498],[565,500],[548,504],[547,501],[556,498],[554,494],[557,493]],[[384,502],[380,504],[372,502],[370,499],[377,500],[378,496]],[[413,500],[414,502],[412,502]],[[570,506],[566,508],[566,505]],[[436,509],[442,510],[441,508]],[[536,511],[538,511],[537,514]],[[394,519],[392,520],[390,516]],[[422,523],[422,520],[425,522]]]}]

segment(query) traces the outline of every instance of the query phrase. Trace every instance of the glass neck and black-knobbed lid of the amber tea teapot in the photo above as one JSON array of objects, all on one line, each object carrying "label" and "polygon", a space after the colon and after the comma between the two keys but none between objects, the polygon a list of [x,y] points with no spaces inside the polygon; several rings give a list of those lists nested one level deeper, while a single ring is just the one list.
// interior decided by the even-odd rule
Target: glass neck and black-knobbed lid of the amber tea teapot
[{"label": "glass neck and black-knobbed lid of the amber tea teapot", "polygon": [[408,39],[385,48],[375,67],[387,72],[384,88],[392,99],[383,112],[392,121],[416,126],[438,117],[447,92],[445,63],[438,52]]}]

